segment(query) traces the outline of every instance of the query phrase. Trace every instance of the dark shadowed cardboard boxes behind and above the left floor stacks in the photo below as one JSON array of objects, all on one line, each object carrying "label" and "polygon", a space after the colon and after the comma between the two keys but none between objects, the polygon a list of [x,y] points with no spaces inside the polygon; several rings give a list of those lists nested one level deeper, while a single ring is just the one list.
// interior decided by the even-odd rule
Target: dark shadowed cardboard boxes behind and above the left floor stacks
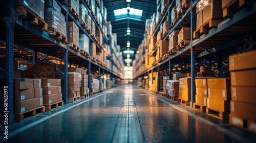
[{"label": "dark shadowed cardboard boxes behind and above the left floor stacks", "polygon": [[56,64],[36,63],[27,64],[27,70],[22,71],[21,77],[26,78],[55,78]]}]

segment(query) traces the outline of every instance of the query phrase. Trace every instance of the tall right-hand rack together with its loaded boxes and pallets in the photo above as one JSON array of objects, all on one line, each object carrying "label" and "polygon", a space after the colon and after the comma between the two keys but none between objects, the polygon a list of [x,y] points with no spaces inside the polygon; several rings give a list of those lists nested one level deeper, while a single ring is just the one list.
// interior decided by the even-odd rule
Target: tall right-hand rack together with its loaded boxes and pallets
[{"label": "tall right-hand rack together with its loaded boxes and pallets", "polygon": [[[161,3],[162,1],[159,4]],[[188,5],[188,3],[190,4]],[[236,8],[233,9],[234,7]],[[217,117],[221,119],[228,118],[228,113],[231,112],[229,115],[230,123],[236,120],[246,120],[248,121],[248,126],[253,126],[255,124],[253,116],[241,114],[242,110],[236,110],[238,106],[244,104],[245,101],[240,99],[240,101],[236,101],[234,98],[231,99],[230,94],[230,77],[231,81],[236,79],[232,76],[232,72],[239,73],[237,70],[230,69],[230,64],[245,59],[245,57],[242,56],[238,58],[241,56],[240,54],[233,56],[236,57],[236,60],[234,60],[234,58],[230,60],[230,55],[237,53],[245,55],[249,54],[248,51],[255,50],[253,40],[255,39],[256,27],[254,21],[250,21],[250,19],[256,15],[255,8],[255,1],[172,1],[168,6],[167,12],[162,14],[163,18],[160,18],[158,22],[155,21],[155,26],[152,26],[152,21],[154,22],[155,16],[152,16],[152,19],[148,20],[151,24],[146,25],[147,37],[144,39],[146,41],[146,51],[153,51],[151,50],[152,47],[156,48],[157,45],[154,45],[154,42],[159,41],[155,40],[157,36],[160,40],[168,39],[168,56],[167,58],[163,57],[155,63],[151,62],[151,65],[148,65],[148,63],[150,63],[149,61],[145,61],[147,64],[144,70],[134,71],[134,79],[150,77],[149,74],[156,70],[158,70],[159,73],[161,66],[168,66],[169,80],[174,80],[175,73],[173,68],[177,64],[182,63],[184,66],[181,66],[181,69],[183,69],[181,73],[191,73],[191,75],[187,75],[187,78],[182,78],[183,81],[189,79],[189,81],[186,82],[187,85],[184,85],[184,88],[188,88],[186,92],[189,99],[184,100],[182,98],[183,89],[180,88],[181,93],[179,96],[181,95],[181,99],[178,100],[179,102],[190,105],[191,107],[194,103],[196,104],[194,108],[200,108],[201,111],[205,111],[210,115],[217,115]],[[169,11],[173,12],[169,13]],[[173,16],[174,13],[177,13],[177,16]],[[166,16],[167,14],[168,16]],[[166,17],[170,19],[168,27],[169,32],[164,36],[160,36],[160,34],[157,35],[160,31],[159,28],[161,28],[160,25],[164,22],[164,18]],[[153,42],[153,44],[151,42]],[[150,57],[148,57],[148,59]],[[247,62],[250,63],[249,60]],[[188,69],[190,69],[190,72],[187,72]],[[229,71],[231,71],[231,74]],[[197,82],[201,85],[204,83],[204,86],[197,85]],[[152,84],[149,81],[148,83]],[[160,83],[160,80],[158,83]],[[215,84],[213,85],[212,83]],[[216,83],[222,84],[217,85]],[[183,86],[183,84],[181,86]],[[245,91],[245,89],[242,89],[242,85],[237,86],[231,82],[231,86],[233,87],[232,89],[236,89],[237,93],[241,93],[243,90]],[[250,90],[252,89],[255,89],[255,87],[250,88]],[[158,88],[157,91],[159,92],[160,88]],[[251,94],[251,92],[249,94]],[[221,97],[219,95],[221,95]],[[230,102],[230,99],[234,100],[234,102]],[[243,103],[240,104],[240,102]],[[254,103],[247,105],[244,109],[249,109],[249,106],[253,107]],[[238,114],[236,114],[236,111],[238,111]],[[247,124],[236,126],[246,128]]]}]

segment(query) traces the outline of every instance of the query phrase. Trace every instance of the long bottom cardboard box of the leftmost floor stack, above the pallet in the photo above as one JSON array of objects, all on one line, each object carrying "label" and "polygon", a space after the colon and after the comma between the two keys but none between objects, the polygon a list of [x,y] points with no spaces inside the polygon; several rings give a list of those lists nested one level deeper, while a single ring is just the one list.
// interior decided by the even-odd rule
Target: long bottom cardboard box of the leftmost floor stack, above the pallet
[{"label": "long bottom cardboard box of the leftmost floor stack, above the pallet", "polygon": [[42,97],[35,98],[35,99],[29,99],[29,100],[23,100],[23,101],[15,101],[15,113],[22,113],[26,112],[38,107],[42,106]]}]

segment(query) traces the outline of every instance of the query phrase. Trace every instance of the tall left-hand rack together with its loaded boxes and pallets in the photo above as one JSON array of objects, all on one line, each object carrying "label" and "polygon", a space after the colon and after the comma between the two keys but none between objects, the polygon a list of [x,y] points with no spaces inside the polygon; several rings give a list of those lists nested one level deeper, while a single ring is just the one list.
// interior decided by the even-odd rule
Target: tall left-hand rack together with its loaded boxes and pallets
[{"label": "tall left-hand rack together with its loaded boxes and pallets", "polygon": [[[73,2],[73,4],[71,4],[71,2]],[[1,26],[1,30],[6,31],[6,34],[2,34],[0,38],[1,53],[6,55],[1,56],[1,61],[5,62],[4,65],[1,65],[1,72],[3,71],[5,73],[1,79],[5,79],[5,85],[9,89],[9,124],[14,122],[14,113],[15,117],[19,117],[18,121],[22,121],[22,116],[25,116],[27,112],[32,112],[30,111],[31,107],[21,108],[19,112],[17,112],[17,110],[14,111],[14,107],[17,106],[14,105],[13,101],[18,101],[20,105],[24,105],[24,103],[29,102],[27,100],[32,100],[26,96],[17,96],[20,92],[26,93],[24,90],[32,91],[32,87],[28,89],[17,89],[20,91],[14,92],[14,90],[12,90],[14,89],[12,84],[14,79],[20,78],[20,83],[31,78],[62,79],[62,89],[58,87],[58,89],[62,91],[57,91],[57,86],[60,85],[56,85],[56,89],[49,85],[42,88],[42,91],[44,91],[42,92],[44,93],[42,97],[46,97],[42,102],[45,108],[44,110],[40,109],[40,111],[35,108],[36,113],[43,112],[45,109],[51,110],[69,103],[68,85],[70,84],[68,81],[68,66],[77,67],[78,65],[83,68],[85,67],[84,69],[88,69],[88,73],[91,73],[90,69],[92,68],[92,70],[98,71],[102,75],[106,73],[110,77],[122,79],[121,71],[114,72],[113,68],[107,68],[105,63],[93,61],[90,57],[89,45],[94,43],[97,47],[96,52],[100,53],[101,56],[103,55],[102,57],[105,57],[102,61],[104,61],[106,57],[111,58],[111,55],[106,53],[103,48],[104,44],[108,45],[109,40],[105,34],[107,29],[102,28],[104,26],[106,27],[106,22],[103,20],[104,22],[97,23],[96,29],[100,30],[99,33],[101,34],[99,34],[99,36],[95,34],[98,37],[92,38],[90,35],[91,31],[85,26],[86,21],[80,22],[79,17],[77,17],[80,14],[82,15],[83,12],[86,13],[85,9],[79,9],[80,5],[84,6],[82,8],[86,8],[90,11],[84,1],[68,1],[68,3],[66,3],[66,1],[54,0],[36,1],[32,3],[23,0],[4,2],[1,6],[1,9],[3,9],[1,13],[1,17],[3,18],[1,18],[1,21],[2,23],[6,23],[6,25]],[[7,8],[4,6],[7,6]],[[74,9],[75,6],[76,9]],[[80,14],[79,10],[81,10]],[[90,13],[88,14],[88,17],[91,17]],[[82,19],[82,17],[83,16],[80,18]],[[93,19],[93,17],[91,18]],[[86,19],[86,17],[84,17],[84,19]],[[101,29],[104,29],[105,32]],[[79,41],[80,38],[84,40]],[[100,57],[100,54],[98,57]],[[120,61],[117,61],[117,64],[118,62]],[[30,69],[28,69],[28,67],[30,67]],[[86,79],[86,77],[81,78],[81,82],[83,81],[81,85],[87,85]],[[103,81],[102,76],[102,82]],[[75,86],[77,87],[78,85]],[[90,87],[90,85],[88,85],[88,87]],[[36,93],[34,99],[36,99],[36,97],[40,95],[40,90],[38,90],[39,88],[33,89]],[[79,89],[79,91],[86,90]],[[14,95],[19,98],[15,98],[14,100]],[[45,101],[46,99],[49,99],[48,102]]]}]

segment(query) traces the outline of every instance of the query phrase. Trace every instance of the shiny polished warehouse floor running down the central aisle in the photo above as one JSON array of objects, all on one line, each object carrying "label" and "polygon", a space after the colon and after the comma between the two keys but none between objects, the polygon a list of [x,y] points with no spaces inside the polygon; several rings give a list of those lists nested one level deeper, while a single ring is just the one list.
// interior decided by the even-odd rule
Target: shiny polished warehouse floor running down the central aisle
[{"label": "shiny polished warehouse floor running down the central aisle", "polygon": [[1,136],[0,142],[256,141],[256,134],[228,121],[130,84],[15,123],[8,130],[8,139]]}]

